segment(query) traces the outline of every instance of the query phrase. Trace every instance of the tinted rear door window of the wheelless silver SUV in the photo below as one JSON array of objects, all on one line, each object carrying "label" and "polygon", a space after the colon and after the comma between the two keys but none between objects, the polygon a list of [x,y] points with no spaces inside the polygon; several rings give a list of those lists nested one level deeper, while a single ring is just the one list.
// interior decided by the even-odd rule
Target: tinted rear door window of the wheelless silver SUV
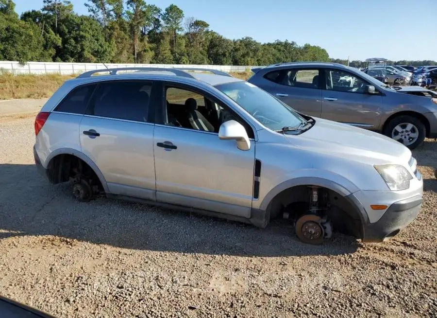
[{"label": "tinted rear door window of the wheelless silver SUV", "polygon": [[141,81],[101,83],[86,114],[149,122],[151,84]]}]

